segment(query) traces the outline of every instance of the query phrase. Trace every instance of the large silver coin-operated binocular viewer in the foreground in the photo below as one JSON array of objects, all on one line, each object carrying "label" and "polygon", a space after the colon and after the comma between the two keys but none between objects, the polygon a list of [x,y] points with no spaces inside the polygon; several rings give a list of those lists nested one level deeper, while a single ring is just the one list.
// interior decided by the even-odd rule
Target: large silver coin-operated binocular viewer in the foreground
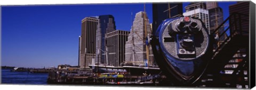
[{"label": "large silver coin-operated binocular viewer in the foreground", "polygon": [[150,40],[159,68],[177,85],[195,83],[212,57],[210,35],[199,19],[167,19]]}]

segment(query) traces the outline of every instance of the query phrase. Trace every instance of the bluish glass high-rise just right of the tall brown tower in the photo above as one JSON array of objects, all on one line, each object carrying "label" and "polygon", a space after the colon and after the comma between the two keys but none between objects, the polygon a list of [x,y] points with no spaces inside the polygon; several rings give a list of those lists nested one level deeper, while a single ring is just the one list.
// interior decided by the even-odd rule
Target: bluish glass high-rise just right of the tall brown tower
[{"label": "bluish glass high-rise just right of the tall brown tower", "polygon": [[99,16],[99,24],[95,39],[95,51],[97,51],[95,56],[95,64],[106,64],[105,34],[115,30],[115,20],[112,15]]}]

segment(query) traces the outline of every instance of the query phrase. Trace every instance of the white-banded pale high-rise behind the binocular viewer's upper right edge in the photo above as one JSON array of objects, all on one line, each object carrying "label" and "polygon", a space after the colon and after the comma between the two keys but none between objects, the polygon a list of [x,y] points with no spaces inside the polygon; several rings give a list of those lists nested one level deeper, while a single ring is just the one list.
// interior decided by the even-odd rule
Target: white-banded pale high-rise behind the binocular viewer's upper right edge
[{"label": "white-banded pale high-rise behind the binocular viewer's upper right edge", "polygon": [[[184,16],[195,17],[201,19],[205,24],[206,29],[210,29],[209,26],[209,11],[205,10],[205,3],[191,3],[185,7],[186,12],[183,13]],[[210,33],[210,32],[209,32]]]}]

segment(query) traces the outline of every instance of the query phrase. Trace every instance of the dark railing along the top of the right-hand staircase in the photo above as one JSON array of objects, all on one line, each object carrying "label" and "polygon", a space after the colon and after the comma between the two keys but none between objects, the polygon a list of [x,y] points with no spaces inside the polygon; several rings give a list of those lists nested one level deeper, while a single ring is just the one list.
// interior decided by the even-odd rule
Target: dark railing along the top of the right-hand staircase
[{"label": "dark railing along the top of the right-hand staircase", "polygon": [[[225,38],[223,41],[218,41],[219,46],[215,48],[213,52],[215,57],[217,53],[227,44],[231,38],[235,35],[248,35],[249,34],[249,15],[241,14],[241,13],[233,13],[229,15],[229,17],[223,21],[217,29],[215,29],[211,34],[218,33],[221,29],[225,30],[221,32],[217,37]],[[243,30],[242,22],[248,22],[248,30]],[[229,23],[228,27],[225,29],[225,24]],[[227,33],[229,32],[229,35]],[[227,36],[227,37],[225,37]]]}]

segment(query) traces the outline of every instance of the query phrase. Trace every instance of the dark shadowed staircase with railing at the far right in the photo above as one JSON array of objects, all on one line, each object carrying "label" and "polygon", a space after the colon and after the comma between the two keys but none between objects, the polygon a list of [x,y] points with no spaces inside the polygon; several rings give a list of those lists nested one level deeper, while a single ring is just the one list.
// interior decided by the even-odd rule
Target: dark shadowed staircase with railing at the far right
[{"label": "dark shadowed staircase with railing at the far right", "polygon": [[218,35],[225,39],[214,48],[209,66],[196,86],[249,88],[249,30],[242,26],[242,22],[249,22],[246,19],[249,19],[248,15],[231,14],[211,33],[217,33],[229,23],[225,31]]}]

